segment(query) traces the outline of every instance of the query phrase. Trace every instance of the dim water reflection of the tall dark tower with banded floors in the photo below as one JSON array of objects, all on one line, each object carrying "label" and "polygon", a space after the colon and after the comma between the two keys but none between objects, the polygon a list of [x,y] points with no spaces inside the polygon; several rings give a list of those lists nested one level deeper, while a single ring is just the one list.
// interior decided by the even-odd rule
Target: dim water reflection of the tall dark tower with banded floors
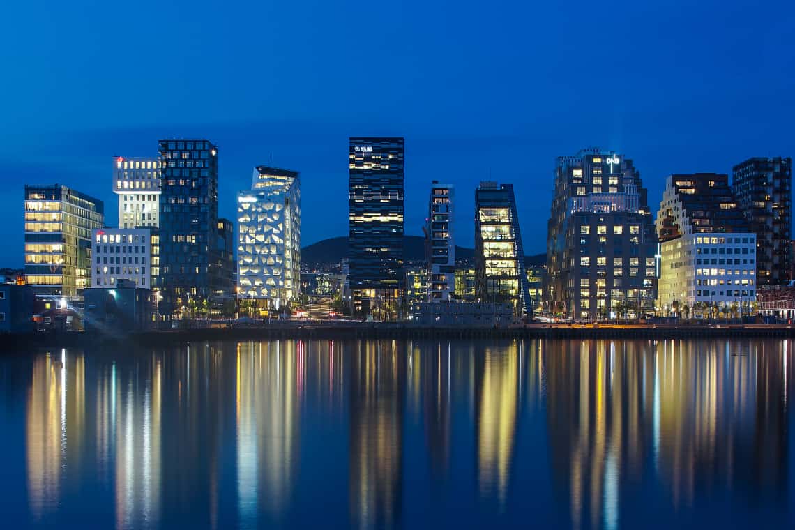
[{"label": "dim water reflection of the tall dark tower with banded floors", "polygon": [[351,522],[398,523],[403,489],[406,354],[396,342],[359,342],[348,358]]}]

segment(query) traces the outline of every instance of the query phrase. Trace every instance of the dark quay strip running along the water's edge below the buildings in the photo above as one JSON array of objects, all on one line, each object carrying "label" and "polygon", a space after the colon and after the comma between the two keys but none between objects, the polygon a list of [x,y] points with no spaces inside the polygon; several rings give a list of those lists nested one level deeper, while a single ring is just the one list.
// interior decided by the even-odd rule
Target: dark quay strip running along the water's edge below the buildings
[{"label": "dark quay strip running along the water's edge below the buildings", "polygon": [[789,324],[528,324],[524,327],[417,327],[402,323],[277,323],[266,326],[213,327],[143,331],[123,335],[95,335],[83,331],[0,335],[0,350],[86,347],[119,343],[138,346],[173,346],[189,342],[241,340],[479,340],[479,339],[715,339],[795,337]]}]

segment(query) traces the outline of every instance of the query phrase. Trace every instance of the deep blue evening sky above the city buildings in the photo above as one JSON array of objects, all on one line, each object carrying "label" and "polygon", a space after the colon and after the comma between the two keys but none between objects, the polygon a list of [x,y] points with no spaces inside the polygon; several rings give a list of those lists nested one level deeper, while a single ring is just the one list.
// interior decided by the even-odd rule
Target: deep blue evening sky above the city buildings
[{"label": "deep blue evening sky above the city buildings", "polygon": [[[231,4],[232,2],[227,2]],[[251,168],[301,171],[304,245],[347,234],[347,137],[405,136],[407,234],[429,183],[512,182],[545,250],[555,157],[672,172],[795,154],[795,2],[7,2],[0,22],[0,266],[21,266],[25,183],[105,200],[111,157],[219,145],[220,213]],[[696,5],[693,5],[696,4]]]}]

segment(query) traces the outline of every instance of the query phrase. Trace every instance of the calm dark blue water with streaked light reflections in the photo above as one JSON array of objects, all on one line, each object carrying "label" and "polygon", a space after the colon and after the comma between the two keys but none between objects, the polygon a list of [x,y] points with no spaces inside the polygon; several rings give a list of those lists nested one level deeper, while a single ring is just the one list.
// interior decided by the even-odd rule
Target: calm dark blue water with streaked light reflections
[{"label": "calm dark blue water with streaked light reflections", "polygon": [[789,341],[0,358],[0,526],[795,524]]}]

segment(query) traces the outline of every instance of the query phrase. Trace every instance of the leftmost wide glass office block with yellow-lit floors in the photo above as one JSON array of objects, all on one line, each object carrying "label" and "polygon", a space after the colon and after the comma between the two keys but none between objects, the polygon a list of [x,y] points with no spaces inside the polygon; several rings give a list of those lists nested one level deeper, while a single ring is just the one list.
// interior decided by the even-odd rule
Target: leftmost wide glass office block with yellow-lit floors
[{"label": "leftmost wide glass office block with yellow-lit floors", "polygon": [[38,295],[78,296],[91,280],[91,230],[99,199],[61,184],[25,185],[25,283]]}]

